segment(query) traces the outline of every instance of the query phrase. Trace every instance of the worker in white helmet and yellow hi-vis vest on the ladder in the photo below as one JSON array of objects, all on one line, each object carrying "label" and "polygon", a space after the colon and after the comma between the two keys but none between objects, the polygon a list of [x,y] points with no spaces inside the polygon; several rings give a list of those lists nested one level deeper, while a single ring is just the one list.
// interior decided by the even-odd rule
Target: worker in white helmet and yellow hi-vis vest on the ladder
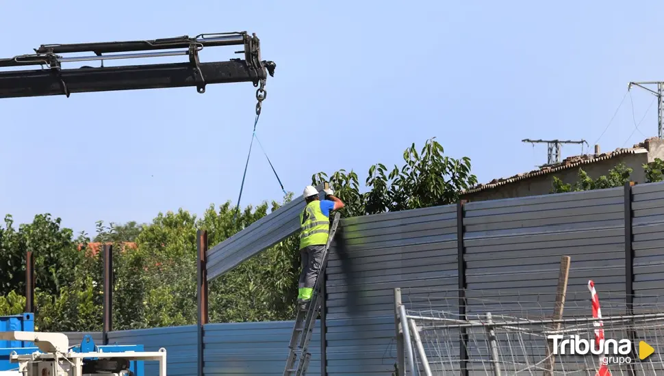
[{"label": "worker in white helmet and yellow hi-vis vest on the ladder", "polygon": [[307,185],[303,196],[307,206],[300,213],[300,257],[302,272],[298,288],[298,306],[306,310],[314,293],[316,277],[320,271],[322,255],[330,232],[330,211],[342,209],[342,200],[332,189],[323,189],[325,200],[318,200],[318,190]]}]

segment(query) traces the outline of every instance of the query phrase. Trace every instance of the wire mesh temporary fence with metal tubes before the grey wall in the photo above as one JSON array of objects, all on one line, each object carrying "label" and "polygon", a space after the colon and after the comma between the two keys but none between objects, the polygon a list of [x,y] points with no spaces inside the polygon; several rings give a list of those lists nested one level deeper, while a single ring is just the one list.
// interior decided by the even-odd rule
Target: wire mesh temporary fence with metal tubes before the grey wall
[{"label": "wire mesh temporary fence with metal tubes before the grey wall", "polygon": [[[408,333],[403,332],[412,343],[414,371],[464,375],[465,369],[470,376],[664,375],[659,353],[664,351],[664,299],[640,296],[641,303],[628,310],[624,293],[598,289],[601,311],[596,313],[601,318],[593,317],[586,288],[567,291],[561,319],[553,317],[555,294],[464,291],[463,300],[459,291],[400,289]],[[559,336],[557,347],[550,336]],[[641,341],[654,349],[645,360],[639,360]],[[408,349],[405,353],[408,359]]]}]

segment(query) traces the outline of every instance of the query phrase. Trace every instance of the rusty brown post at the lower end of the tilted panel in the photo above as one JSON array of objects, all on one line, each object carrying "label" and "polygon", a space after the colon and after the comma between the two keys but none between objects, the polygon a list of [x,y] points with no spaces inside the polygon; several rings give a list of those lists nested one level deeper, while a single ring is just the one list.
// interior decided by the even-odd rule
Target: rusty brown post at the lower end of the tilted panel
[{"label": "rusty brown post at the lower end of the tilted panel", "polygon": [[209,323],[207,286],[207,231],[196,231],[196,305],[198,306],[198,376],[203,376],[203,325]]}]

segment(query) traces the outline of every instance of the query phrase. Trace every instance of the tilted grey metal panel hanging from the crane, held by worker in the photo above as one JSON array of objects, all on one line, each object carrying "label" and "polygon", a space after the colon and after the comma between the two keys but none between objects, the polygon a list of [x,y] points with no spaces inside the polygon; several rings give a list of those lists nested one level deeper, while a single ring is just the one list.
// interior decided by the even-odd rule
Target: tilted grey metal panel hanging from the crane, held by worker
[{"label": "tilted grey metal panel hanging from the crane, held by worker", "polygon": [[[319,185],[316,188],[320,191],[323,187],[324,185]],[[323,195],[323,193],[320,194]],[[304,207],[304,198],[298,196],[209,249],[207,251],[207,280],[214,280],[248,258],[297,232],[300,229],[298,217]]]}]

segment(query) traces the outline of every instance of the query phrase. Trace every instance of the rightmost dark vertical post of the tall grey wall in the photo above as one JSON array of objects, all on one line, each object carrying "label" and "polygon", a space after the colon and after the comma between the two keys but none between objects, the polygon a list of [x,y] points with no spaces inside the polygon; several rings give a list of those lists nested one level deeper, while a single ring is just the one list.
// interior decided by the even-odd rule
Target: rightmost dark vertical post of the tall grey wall
[{"label": "rightmost dark vertical post of the tall grey wall", "polygon": [[[659,86],[659,85],[658,85]],[[627,306],[627,314],[631,316],[634,314],[634,252],[632,250],[632,186],[634,182],[628,181],[625,183],[625,303]],[[635,358],[637,354],[636,349],[636,333],[634,331],[634,321],[631,321],[631,330],[628,330],[628,337],[632,341],[633,348],[630,354]],[[634,366],[629,364],[628,375],[634,376]]]}]

